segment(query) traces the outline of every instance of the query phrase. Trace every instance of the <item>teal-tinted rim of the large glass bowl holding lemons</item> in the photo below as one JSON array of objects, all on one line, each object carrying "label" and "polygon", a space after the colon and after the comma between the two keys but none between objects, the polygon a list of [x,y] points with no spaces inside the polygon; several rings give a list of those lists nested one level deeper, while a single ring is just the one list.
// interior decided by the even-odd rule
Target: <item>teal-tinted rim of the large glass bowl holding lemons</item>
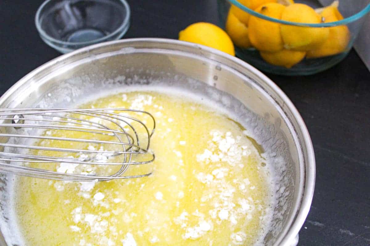
[{"label": "teal-tinted rim of the large glass bowl holding lemons", "polygon": [[250,8],[245,7],[238,0],[227,0],[227,1],[229,1],[231,4],[235,5],[236,7],[240,8],[241,10],[243,10],[243,11],[245,11],[245,12],[251,14],[251,15],[254,15],[258,18],[261,18],[263,20],[273,21],[273,22],[277,22],[277,23],[280,23],[280,24],[286,24],[286,25],[294,25],[294,26],[299,26],[299,27],[335,27],[335,26],[339,26],[339,25],[346,25],[350,22],[359,20],[360,18],[364,17],[367,13],[370,12],[370,3],[369,3],[369,4],[367,4],[366,7],[364,7],[358,13],[353,14],[353,15],[347,17],[347,18],[344,18],[343,20],[334,21],[334,22],[327,22],[327,23],[312,24],[312,23],[300,23],[300,22],[283,21],[283,20],[279,20],[279,19],[276,19],[276,18],[271,18],[271,17],[268,17],[266,15],[260,14],[256,11],[253,11]]}]

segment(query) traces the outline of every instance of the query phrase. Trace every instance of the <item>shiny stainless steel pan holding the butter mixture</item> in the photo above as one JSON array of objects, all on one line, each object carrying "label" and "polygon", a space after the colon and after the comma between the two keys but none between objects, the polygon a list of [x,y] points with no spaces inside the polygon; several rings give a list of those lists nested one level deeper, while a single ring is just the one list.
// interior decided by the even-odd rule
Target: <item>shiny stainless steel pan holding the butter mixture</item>
[{"label": "shiny stainless steel pan holding the butter mixture", "polygon": [[[311,205],[315,160],[306,126],[289,98],[254,67],[215,49],[171,39],[125,39],[89,46],[38,67],[1,98],[0,108],[73,107],[100,91],[182,87],[242,116],[269,158],[276,203],[264,245],[295,245]],[[232,99],[230,99],[232,98]],[[0,245],[16,245],[12,176],[0,179]]]}]

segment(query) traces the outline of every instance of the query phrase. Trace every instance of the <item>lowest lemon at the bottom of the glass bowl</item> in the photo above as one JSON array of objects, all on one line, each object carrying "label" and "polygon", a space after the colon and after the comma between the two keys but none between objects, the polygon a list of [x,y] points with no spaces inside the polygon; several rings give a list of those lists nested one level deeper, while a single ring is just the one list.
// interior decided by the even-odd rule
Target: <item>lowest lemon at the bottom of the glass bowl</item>
[{"label": "lowest lemon at the bottom of the glass bowl", "polygon": [[260,55],[266,62],[272,65],[290,68],[303,60],[306,52],[283,49],[282,51],[277,52],[260,51]]}]

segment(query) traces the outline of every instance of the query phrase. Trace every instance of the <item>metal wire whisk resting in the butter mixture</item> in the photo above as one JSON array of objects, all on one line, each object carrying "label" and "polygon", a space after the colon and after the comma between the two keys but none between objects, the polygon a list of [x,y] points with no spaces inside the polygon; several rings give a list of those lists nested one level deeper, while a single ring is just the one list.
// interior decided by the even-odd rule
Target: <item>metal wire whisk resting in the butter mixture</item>
[{"label": "metal wire whisk resting in the butter mixture", "polygon": [[154,161],[154,130],[154,117],[140,110],[0,109],[0,172],[64,181],[149,176],[131,169]]}]

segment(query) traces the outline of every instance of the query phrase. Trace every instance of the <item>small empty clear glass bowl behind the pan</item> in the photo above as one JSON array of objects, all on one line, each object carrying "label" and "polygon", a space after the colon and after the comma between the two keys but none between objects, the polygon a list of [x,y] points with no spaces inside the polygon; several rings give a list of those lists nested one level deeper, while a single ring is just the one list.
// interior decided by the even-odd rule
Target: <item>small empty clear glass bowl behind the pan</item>
[{"label": "small empty clear glass bowl behind the pan", "polygon": [[128,30],[125,0],[47,0],[35,22],[43,41],[61,53],[120,39]]}]

